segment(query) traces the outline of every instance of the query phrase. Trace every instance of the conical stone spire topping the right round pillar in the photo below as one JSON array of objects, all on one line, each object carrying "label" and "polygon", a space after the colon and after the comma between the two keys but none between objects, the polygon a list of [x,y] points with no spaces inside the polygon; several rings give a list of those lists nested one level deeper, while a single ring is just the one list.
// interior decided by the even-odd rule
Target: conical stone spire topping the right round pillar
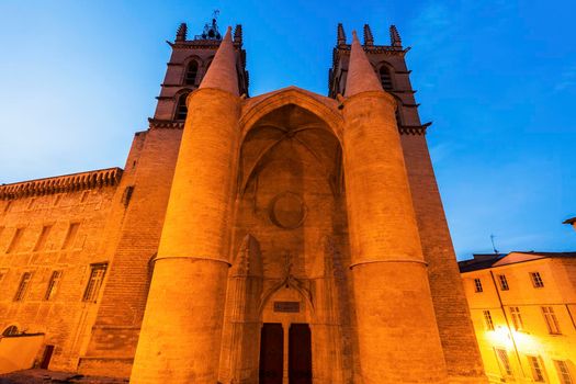
[{"label": "conical stone spire topping the right round pillar", "polygon": [[352,48],[346,80],[346,95],[351,97],[365,91],[382,91],[382,86],[360,45],[355,31],[352,32]]}]

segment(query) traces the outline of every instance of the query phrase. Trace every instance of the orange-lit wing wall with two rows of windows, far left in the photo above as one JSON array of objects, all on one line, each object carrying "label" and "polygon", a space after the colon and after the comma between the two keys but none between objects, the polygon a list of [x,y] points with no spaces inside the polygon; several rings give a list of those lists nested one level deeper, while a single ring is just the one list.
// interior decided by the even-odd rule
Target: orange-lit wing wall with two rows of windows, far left
[{"label": "orange-lit wing wall with two rows of windows, far left", "polygon": [[[114,176],[106,179],[106,172]],[[121,173],[111,169],[0,187],[0,328],[45,334],[44,343],[55,346],[50,369],[76,370],[90,332],[98,301],[83,295],[90,264],[110,262],[103,235]],[[71,223],[78,224],[75,236]],[[54,271],[61,275],[46,300]],[[25,272],[31,280],[15,301]]]}]

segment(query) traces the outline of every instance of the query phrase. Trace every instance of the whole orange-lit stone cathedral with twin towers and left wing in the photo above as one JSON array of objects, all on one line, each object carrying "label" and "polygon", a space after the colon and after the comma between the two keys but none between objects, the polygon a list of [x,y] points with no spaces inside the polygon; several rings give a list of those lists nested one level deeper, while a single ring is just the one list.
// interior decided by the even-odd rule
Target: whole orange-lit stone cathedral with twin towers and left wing
[{"label": "whole orange-lit stone cathedral with twin towers and left wing", "polygon": [[0,185],[0,364],[134,384],[485,383],[430,123],[389,35],[339,24],[327,95],[250,95],[241,25],[181,24],[123,169]]}]

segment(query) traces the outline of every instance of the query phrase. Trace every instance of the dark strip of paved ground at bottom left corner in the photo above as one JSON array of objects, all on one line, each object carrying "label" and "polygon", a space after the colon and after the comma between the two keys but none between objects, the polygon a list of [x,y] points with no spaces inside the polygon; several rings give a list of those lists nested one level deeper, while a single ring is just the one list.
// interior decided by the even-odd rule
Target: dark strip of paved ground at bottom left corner
[{"label": "dark strip of paved ground at bottom left corner", "polygon": [[84,376],[77,373],[46,370],[26,370],[0,375],[0,384],[125,384],[127,379]]}]

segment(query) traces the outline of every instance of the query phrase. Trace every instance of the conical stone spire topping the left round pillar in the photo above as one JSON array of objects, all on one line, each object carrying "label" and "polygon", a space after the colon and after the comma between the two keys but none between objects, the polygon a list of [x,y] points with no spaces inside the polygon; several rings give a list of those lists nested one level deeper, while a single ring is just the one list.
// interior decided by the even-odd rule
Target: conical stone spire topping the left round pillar
[{"label": "conical stone spire topping the left round pillar", "polygon": [[236,72],[236,53],[231,42],[231,27],[228,26],[226,35],[216,52],[216,56],[202,79],[199,88],[217,88],[238,95],[238,75]]}]

